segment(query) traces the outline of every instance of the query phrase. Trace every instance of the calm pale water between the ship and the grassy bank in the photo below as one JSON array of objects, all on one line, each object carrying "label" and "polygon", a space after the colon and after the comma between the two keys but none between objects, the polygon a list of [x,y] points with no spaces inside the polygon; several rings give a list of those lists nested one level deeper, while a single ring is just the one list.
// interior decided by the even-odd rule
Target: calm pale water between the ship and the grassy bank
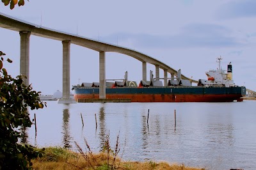
[{"label": "calm pale water between the ship and the grassy bank", "polygon": [[37,135],[31,127],[27,140],[36,146],[76,150],[74,141],[85,148],[85,138],[98,152],[108,132],[111,146],[115,146],[120,131],[124,160],[164,160],[207,169],[256,169],[254,101],[71,105],[49,101],[46,108],[31,111],[31,117],[34,113]]}]

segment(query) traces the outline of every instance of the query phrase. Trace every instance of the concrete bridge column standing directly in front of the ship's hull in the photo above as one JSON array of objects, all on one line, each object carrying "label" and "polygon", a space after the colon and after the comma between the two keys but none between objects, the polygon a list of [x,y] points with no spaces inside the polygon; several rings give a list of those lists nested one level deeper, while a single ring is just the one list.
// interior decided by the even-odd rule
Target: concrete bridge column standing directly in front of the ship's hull
[{"label": "concrete bridge column standing directly in front of the ship's hull", "polygon": [[106,58],[105,52],[100,52],[100,89],[99,89],[99,98],[106,98]]}]

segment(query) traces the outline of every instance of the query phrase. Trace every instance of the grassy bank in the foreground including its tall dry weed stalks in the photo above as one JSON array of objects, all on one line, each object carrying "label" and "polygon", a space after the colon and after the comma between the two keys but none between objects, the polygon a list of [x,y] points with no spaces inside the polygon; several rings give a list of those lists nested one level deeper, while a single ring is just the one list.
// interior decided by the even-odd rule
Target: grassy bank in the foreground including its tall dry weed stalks
[{"label": "grassy bank in the foreground including its tall dry weed stalks", "polygon": [[[45,148],[42,157],[38,157],[33,162],[33,169],[43,170],[43,169],[95,169],[95,170],[135,170],[135,169],[145,169],[145,170],[199,170],[200,168],[186,167],[184,164],[170,165],[166,162],[154,162],[152,160],[148,162],[135,162],[135,161],[122,161],[121,157],[117,157],[120,152],[119,144],[119,134],[116,137],[115,147],[112,149],[109,142],[109,133],[104,139],[104,144],[102,144],[102,151],[100,153],[93,153],[86,139],[84,139],[86,144],[86,151],[75,143],[77,146],[77,152],[67,150],[61,147],[49,147]],[[38,149],[39,150],[39,149]],[[201,169],[202,170],[202,169]]]}]

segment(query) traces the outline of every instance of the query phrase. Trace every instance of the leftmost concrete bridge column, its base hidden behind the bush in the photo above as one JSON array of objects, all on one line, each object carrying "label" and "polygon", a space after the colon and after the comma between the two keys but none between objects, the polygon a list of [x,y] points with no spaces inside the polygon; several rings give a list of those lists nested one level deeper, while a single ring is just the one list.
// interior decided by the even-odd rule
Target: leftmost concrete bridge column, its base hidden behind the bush
[{"label": "leftmost concrete bridge column, its base hidden behind the bush", "polygon": [[23,79],[26,86],[29,85],[29,37],[30,32],[20,32],[20,74],[25,75]]}]

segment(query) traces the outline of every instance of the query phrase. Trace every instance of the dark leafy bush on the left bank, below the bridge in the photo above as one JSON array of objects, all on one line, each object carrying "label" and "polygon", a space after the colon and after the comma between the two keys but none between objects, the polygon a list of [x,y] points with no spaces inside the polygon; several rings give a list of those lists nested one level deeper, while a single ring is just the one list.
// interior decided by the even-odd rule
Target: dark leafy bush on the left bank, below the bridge
[{"label": "dark leafy bush on the left bank, below the bridge", "polygon": [[0,51],[0,169],[29,169],[31,158],[40,156],[40,151],[28,144],[19,144],[20,128],[33,124],[29,107],[39,109],[45,103],[40,101],[40,92],[23,84],[22,79],[26,77],[8,75],[3,62],[12,63],[12,60],[4,60],[4,56]]}]

